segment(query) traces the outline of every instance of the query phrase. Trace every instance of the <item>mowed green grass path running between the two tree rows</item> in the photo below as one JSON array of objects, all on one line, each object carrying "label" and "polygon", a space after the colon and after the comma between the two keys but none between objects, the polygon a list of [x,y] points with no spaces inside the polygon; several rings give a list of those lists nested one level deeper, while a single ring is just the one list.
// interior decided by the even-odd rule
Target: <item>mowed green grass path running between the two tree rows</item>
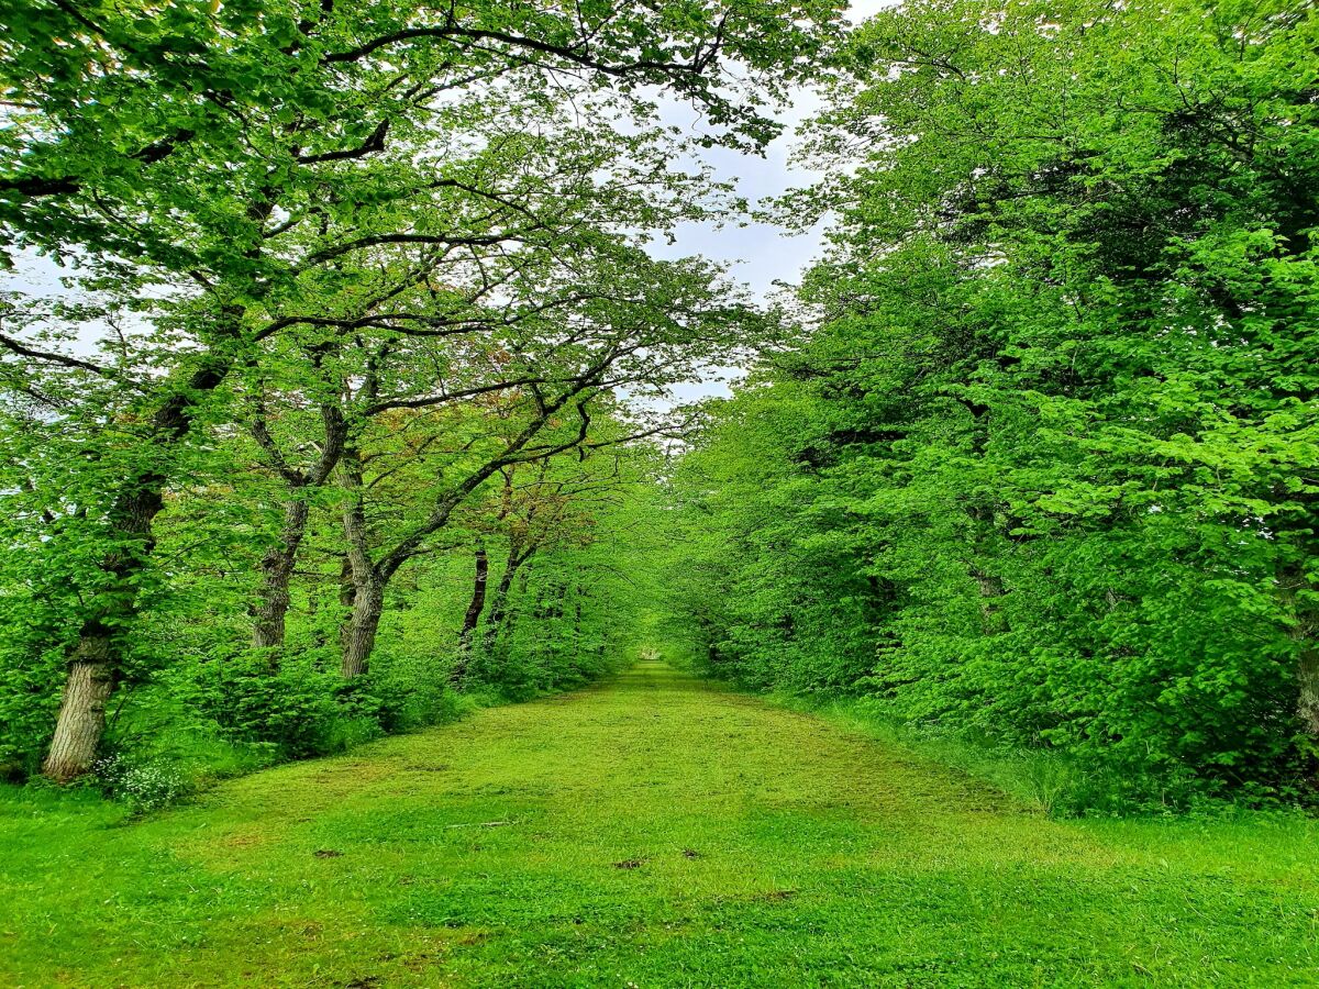
[{"label": "mowed green grass path running between the two tree rows", "polygon": [[657,662],[144,822],[0,810],[5,986],[1319,985],[1311,824],[1050,822]]}]

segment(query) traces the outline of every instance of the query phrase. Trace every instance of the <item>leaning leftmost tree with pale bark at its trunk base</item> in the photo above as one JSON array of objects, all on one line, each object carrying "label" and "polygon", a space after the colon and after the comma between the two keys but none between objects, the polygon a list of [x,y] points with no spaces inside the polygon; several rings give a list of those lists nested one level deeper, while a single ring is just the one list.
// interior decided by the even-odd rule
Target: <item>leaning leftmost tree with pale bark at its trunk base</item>
[{"label": "leaning leftmost tree with pale bark at its trunk base", "polygon": [[[525,160],[491,121],[525,128],[572,96],[596,120],[632,117],[629,145],[653,160],[646,90],[667,87],[719,128],[704,140],[756,146],[774,129],[761,102],[814,71],[835,12],[816,0],[462,12],[33,0],[0,16],[7,241],[82,265],[119,299],[164,297],[175,319],[173,345],[157,316],[161,335],[137,355],[128,469],[102,475],[78,508],[99,522],[100,562],[73,595],[79,633],[46,761],[69,779],[104,727],[153,521],[233,369],[286,330],[353,328],[455,253],[479,264],[481,249],[558,243],[580,222],[505,196],[506,173],[487,165]],[[385,257],[396,281],[322,315]],[[37,376],[124,377],[12,334],[0,344]]]}]

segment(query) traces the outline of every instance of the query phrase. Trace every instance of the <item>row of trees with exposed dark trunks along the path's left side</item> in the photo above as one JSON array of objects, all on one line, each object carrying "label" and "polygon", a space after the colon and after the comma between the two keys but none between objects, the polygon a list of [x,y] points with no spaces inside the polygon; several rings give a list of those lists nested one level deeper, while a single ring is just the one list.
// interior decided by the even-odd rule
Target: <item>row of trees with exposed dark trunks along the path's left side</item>
[{"label": "row of trees with exposed dark trunks along the path's left side", "polygon": [[[24,0],[0,22],[3,247],[63,281],[0,311],[0,761],[74,779],[152,708],[315,750],[291,736],[347,731],[327,704],[389,728],[504,675],[518,621],[562,633],[510,661],[521,686],[609,662],[617,502],[683,425],[619,396],[766,322],[645,245],[728,208],[674,162],[773,137],[832,4]],[[439,669],[398,669],[417,657]]]}]

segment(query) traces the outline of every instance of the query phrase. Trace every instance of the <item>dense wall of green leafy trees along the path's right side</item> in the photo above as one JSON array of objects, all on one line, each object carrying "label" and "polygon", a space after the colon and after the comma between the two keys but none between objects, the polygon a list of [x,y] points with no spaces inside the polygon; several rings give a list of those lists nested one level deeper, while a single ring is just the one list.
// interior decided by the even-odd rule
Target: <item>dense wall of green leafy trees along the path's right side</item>
[{"label": "dense wall of green leafy trees along the path's right side", "polygon": [[714,670],[1046,746],[1086,802],[1295,796],[1319,734],[1319,13],[910,3],[674,483]]}]

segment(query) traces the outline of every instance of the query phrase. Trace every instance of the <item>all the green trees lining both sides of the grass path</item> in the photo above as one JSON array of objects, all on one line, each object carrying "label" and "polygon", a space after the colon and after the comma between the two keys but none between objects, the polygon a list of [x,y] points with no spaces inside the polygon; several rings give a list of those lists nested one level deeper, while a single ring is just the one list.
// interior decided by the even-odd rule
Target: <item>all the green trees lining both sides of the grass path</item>
[{"label": "all the green trees lining both sides of the grass path", "polygon": [[[0,765],[236,771],[650,636],[1076,808],[1312,799],[1319,9],[836,7],[0,0]],[[803,284],[662,260],[806,88]]]}]

